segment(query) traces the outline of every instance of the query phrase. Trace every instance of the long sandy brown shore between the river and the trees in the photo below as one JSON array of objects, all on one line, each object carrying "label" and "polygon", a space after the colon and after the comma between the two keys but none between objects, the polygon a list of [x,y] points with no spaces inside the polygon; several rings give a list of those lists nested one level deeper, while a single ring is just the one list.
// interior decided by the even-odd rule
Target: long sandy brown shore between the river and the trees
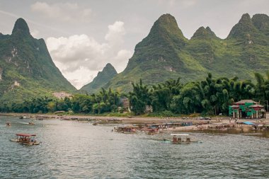
[{"label": "long sandy brown shore between the river and the trees", "polygon": [[[79,122],[93,122],[96,121],[101,124],[110,125],[153,125],[153,124],[166,124],[168,122],[193,122],[191,126],[183,127],[169,127],[168,129],[161,129],[161,132],[221,132],[229,134],[248,134],[251,131],[251,126],[239,127],[236,125],[235,120],[230,120],[230,117],[212,117],[212,120],[197,120],[194,117],[189,117],[188,120],[183,120],[181,117],[104,117],[104,116],[93,116],[93,115],[47,115],[47,114],[28,114],[28,113],[0,113],[1,116],[30,116],[31,119],[43,118],[44,120],[76,120]],[[115,121],[117,122],[115,122]],[[237,122],[254,122],[256,124],[269,124],[269,120],[249,120],[240,119]],[[232,131],[226,129],[225,125],[235,125]],[[219,127],[212,129],[212,127]],[[211,127],[211,129],[210,129]],[[269,137],[268,131],[265,133],[259,131],[263,137]],[[252,133],[251,133],[252,134]]]}]

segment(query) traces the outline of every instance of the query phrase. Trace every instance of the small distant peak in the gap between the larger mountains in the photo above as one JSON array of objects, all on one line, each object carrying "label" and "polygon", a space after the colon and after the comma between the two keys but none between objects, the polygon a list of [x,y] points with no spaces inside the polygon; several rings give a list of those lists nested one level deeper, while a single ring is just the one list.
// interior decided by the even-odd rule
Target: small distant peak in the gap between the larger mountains
[{"label": "small distant peak in the gap between the larger mountains", "polygon": [[86,91],[88,93],[96,93],[101,90],[102,87],[105,86],[105,83],[108,83],[110,79],[113,79],[115,75],[117,75],[117,71],[112,66],[112,64],[108,63],[105,65],[102,71],[99,71],[96,78],[93,79],[91,83],[83,86],[80,91]]}]

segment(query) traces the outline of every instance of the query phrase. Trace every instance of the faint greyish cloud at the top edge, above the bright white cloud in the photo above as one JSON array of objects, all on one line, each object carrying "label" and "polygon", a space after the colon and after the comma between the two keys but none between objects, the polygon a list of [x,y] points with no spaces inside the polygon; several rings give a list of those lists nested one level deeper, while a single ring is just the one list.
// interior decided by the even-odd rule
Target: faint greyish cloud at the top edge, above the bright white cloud
[{"label": "faint greyish cloud at the top edge, above the bright white cloud", "polygon": [[88,21],[91,18],[91,8],[82,8],[75,3],[47,4],[38,1],[30,7],[33,12],[40,13],[45,18],[59,21]]}]

